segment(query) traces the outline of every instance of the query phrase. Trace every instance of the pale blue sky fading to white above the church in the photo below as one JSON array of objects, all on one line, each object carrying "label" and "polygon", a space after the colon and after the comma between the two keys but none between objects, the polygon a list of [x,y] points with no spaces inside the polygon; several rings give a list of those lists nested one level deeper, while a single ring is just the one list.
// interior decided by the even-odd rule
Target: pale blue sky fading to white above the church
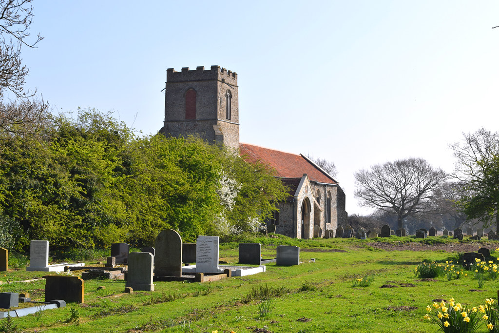
[{"label": "pale blue sky fading to white above the church", "polygon": [[449,144],[499,126],[499,1],[33,1],[25,88],[53,112],[164,120],[166,69],[238,73],[240,140],[354,173],[408,157],[452,172]]}]

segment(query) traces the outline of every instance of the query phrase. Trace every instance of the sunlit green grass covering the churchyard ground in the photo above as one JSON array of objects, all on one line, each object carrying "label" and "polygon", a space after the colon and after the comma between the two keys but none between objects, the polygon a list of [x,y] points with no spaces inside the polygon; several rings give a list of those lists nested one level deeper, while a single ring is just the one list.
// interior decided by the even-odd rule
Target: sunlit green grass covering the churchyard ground
[{"label": "sunlit green grass covering the churchyard ground", "polygon": [[[259,238],[263,258],[275,256],[275,245],[300,246],[305,263],[293,267],[266,265],[266,272],[210,283],[156,282],[154,292],[124,294],[123,281],[85,281],[85,304],[47,310],[41,316],[12,319],[19,332],[436,332],[423,319],[433,300],[450,298],[478,306],[497,298],[499,279],[478,288],[474,272],[467,277],[415,277],[423,261],[458,260],[458,253],[433,251],[433,244],[458,241],[441,237],[421,240],[424,251],[377,250],[356,239],[292,240]],[[375,239],[385,247],[416,242],[392,237]],[[494,250],[498,242],[465,241]],[[494,252],[494,251],[493,251]],[[493,253],[497,257],[497,253]],[[308,260],[315,258],[315,263]],[[238,262],[236,243],[223,244],[220,260]],[[96,262],[87,262],[95,264]],[[2,272],[2,280],[39,278],[23,268]],[[367,287],[353,287],[372,276]],[[391,288],[381,288],[390,285]],[[105,289],[98,290],[99,286]],[[43,299],[44,280],[2,284],[0,292],[29,292]],[[0,327],[5,324],[0,320]],[[487,332],[482,326],[477,332]]]}]

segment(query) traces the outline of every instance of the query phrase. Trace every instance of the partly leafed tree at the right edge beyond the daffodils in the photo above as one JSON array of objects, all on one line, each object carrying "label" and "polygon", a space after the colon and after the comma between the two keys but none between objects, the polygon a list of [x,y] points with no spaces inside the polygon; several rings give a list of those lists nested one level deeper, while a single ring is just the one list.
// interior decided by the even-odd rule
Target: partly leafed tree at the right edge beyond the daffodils
[{"label": "partly leafed tree at the right edge beyond the daffodils", "polygon": [[451,149],[457,158],[455,176],[464,183],[459,206],[468,219],[486,226],[495,222],[499,233],[499,132],[481,128],[464,134]]}]

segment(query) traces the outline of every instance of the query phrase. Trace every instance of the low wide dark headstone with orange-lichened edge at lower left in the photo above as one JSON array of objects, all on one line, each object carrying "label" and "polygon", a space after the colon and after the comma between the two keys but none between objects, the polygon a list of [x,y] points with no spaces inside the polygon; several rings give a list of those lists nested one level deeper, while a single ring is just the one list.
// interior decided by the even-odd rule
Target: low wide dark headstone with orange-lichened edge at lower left
[{"label": "low wide dark headstone with orange-lichened edge at lower left", "polygon": [[64,300],[66,302],[85,302],[85,282],[74,276],[46,275],[45,302]]}]

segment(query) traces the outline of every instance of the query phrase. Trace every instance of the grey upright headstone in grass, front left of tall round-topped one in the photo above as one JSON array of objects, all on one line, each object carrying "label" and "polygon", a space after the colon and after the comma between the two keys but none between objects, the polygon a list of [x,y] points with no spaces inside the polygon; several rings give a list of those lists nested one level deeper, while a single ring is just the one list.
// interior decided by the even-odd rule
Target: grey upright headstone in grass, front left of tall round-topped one
[{"label": "grey upright headstone in grass, front left of tall round-topped one", "polygon": [[128,275],[125,287],[154,291],[154,256],[150,252],[132,252],[128,256]]}]

